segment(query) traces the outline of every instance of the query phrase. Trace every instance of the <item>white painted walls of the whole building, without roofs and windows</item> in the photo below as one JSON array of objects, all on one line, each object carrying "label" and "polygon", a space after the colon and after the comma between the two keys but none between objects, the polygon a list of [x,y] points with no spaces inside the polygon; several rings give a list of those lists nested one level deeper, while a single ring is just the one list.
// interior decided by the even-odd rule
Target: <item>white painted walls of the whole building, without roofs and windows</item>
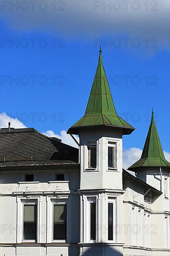
[{"label": "white painted walls of the whole building, without roofs and windows", "polygon": [[[85,147],[88,141],[97,141],[98,170],[86,170]],[[25,171],[0,172],[0,256],[169,256],[170,255],[170,193],[164,196],[164,177],[170,172],[162,170],[163,194],[152,202],[144,201],[144,187],[134,180],[122,182],[122,158],[117,169],[107,169],[107,143],[114,141],[122,151],[120,134],[82,133],[80,136],[81,167],[79,169],[30,170],[35,182],[23,182]],[[100,152],[99,151],[99,152]],[[138,177],[160,189],[159,170],[138,172]],[[65,182],[54,182],[55,173],[65,173]],[[156,175],[154,174],[155,172]],[[170,179],[169,179],[170,181]],[[124,186],[123,186],[124,185]],[[169,184],[170,185],[170,184]],[[170,191],[170,186],[169,186]],[[34,194],[32,193],[34,191]],[[23,194],[25,192],[25,194]],[[55,193],[54,193],[55,192]],[[52,194],[54,193],[54,194]],[[89,198],[97,202],[97,240],[89,241]],[[37,200],[38,223],[42,228],[38,243],[24,244],[20,234],[21,205],[23,200]],[[69,205],[68,243],[52,243],[52,202]],[[108,202],[114,202],[114,239],[108,241]],[[165,220],[166,218],[166,220]],[[166,228],[168,225],[168,228]],[[18,225],[18,226],[17,226]],[[135,227],[140,229],[135,234]],[[46,228],[44,231],[43,228]],[[17,234],[18,231],[18,234]],[[165,236],[165,233],[166,236]]]}]

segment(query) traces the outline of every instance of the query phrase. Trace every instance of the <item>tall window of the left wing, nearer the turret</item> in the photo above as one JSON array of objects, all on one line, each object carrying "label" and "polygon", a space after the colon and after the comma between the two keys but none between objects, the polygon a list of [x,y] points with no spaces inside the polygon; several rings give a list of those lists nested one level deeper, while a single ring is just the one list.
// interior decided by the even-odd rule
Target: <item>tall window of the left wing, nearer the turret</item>
[{"label": "tall window of the left wing, nearer the turret", "polygon": [[53,240],[67,240],[67,204],[53,205]]}]

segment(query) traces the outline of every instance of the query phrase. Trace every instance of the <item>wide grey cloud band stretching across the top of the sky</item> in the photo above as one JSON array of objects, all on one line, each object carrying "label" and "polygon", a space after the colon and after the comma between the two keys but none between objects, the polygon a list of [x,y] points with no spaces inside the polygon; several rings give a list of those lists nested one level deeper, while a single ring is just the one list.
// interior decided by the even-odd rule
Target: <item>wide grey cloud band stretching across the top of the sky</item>
[{"label": "wide grey cloud band stretching across the top of the sky", "polygon": [[[23,9],[26,8],[26,4],[19,5],[18,10],[16,7],[10,6],[10,2],[17,2],[14,0],[9,1],[9,5],[2,9],[2,17],[13,29],[24,32],[26,30],[36,31],[37,29],[52,31],[66,38],[78,38],[84,35],[86,40],[88,37],[91,40],[94,37],[102,37],[107,34],[111,37],[127,34],[127,37],[140,38],[141,40],[156,38],[158,49],[159,47],[169,48],[170,1],[168,0],[66,0],[60,1],[60,4],[56,1],[55,10],[53,10],[53,0],[35,1],[34,10],[31,3],[33,1],[26,1],[28,8],[25,11]],[[39,5],[39,2],[45,2],[46,6]],[[63,7],[62,2],[64,3]],[[127,2],[127,10],[125,10],[125,2]],[[106,7],[109,4],[111,6]],[[41,10],[43,8],[45,8],[44,11]],[[154,41],[150,42],[150,44],[152,43]]]}]

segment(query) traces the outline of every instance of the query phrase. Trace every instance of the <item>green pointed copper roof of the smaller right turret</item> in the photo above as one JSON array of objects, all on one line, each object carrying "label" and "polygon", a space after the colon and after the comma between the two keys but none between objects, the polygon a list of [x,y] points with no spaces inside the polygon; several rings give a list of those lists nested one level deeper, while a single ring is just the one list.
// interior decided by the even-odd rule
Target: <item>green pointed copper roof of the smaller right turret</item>
[{"label": "green pointed copper roof of the smaller right turret", "polygon": [[146,141],[144,143],[144,149],[141,158],[128,169],[134,169],[137,167],[170,167],[170,163],[165,159],[163,154],[163,148],[157,133],[157,127],[155,125],[154,113],[152,110],[152,118],[150,122],[150,128]]}]

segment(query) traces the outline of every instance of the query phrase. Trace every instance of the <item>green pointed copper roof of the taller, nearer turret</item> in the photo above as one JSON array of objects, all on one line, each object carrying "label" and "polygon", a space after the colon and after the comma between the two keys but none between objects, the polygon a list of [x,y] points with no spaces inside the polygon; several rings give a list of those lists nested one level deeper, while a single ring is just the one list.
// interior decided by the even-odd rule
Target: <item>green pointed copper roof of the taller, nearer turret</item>
[{"label": "green pointed copper roof of the taller, nearer turret", "polygon": [[68,132],[78,134],[79,128],[104,125],[123,128],[123,134],[130,134],[135,128],[117,115],[103,66],[101,47],[99,52],[98,67],[85,115]]}]

